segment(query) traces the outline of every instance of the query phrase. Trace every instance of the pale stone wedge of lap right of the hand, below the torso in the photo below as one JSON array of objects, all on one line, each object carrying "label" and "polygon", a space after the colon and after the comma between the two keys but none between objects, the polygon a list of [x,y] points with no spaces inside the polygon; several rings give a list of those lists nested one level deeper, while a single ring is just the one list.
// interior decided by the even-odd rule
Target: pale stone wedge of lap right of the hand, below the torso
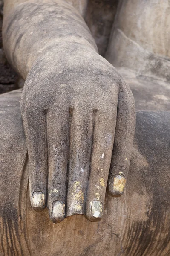
[{"label": "pale stone wedge of lap right of the hand, below the torso", "polygon": [[170,111],[170,83],[144,76],[125,67],[118,71],[130,86],[137,110]]}]

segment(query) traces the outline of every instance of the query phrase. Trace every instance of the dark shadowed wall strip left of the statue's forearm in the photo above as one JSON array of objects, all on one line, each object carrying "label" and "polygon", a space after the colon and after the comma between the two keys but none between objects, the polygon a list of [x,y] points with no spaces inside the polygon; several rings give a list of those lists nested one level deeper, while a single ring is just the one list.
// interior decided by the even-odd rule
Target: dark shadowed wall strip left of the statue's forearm
[{"label": "dark shadowed wall strip left of the statue's forearm", "polygon": [[0,1],[0,93],[18,88],[17,74],[6,60],[2,42],[3,1]]}]

